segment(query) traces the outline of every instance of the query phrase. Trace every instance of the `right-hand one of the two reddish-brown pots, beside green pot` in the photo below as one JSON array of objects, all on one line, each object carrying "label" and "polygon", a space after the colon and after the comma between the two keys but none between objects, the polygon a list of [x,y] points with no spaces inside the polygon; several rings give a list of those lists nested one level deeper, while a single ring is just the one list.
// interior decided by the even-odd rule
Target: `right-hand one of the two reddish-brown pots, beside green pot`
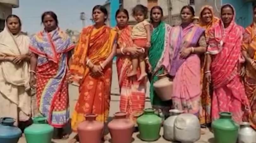
[{"label": "right-hand one of the two reddish-brown pots, beside green pot", "polygon": [[111,143],[131,143],[134,132],[134,123],[127,118],[126,112],[116,112],[115,119],[110,121],[108,128]]}]

